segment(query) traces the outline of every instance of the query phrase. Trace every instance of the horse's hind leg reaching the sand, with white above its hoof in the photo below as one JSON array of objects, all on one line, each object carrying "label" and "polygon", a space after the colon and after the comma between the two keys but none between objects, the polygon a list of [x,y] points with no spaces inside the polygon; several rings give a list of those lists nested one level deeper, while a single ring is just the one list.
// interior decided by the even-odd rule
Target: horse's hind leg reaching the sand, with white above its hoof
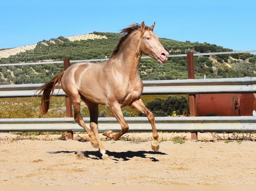
[{"label": "horse's hind leg reaching the sand, with white above its hoof", "polygon": [[101,142],[99,133],[98,133],[98,117],[99,117],[99,104],[91,102],[84,97],[81,97],[82,100],[86,103],[89,112],[90,112],[90,128],[93,131],[96,139],[98,140],[99,143],[99,151],[102,154],[102,159],[103,160],[108,160],[111,159],[109,155],[106,153],[106,150]]}]

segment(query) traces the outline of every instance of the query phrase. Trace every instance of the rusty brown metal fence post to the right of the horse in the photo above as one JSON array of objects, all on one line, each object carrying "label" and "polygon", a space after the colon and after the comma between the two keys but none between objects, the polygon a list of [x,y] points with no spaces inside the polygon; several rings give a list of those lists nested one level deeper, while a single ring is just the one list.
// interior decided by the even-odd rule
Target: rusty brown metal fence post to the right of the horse
[{"label": "rusty brown metal fence post to the right of the horse", "polygon": [[[192,52],[187,53],[187,77],[195,79],[194,54]],[[196,95],[189,95],[189,112],[190,116],[197,116]],[[191,133],[191,141],[198,141],[197,132]]]}]

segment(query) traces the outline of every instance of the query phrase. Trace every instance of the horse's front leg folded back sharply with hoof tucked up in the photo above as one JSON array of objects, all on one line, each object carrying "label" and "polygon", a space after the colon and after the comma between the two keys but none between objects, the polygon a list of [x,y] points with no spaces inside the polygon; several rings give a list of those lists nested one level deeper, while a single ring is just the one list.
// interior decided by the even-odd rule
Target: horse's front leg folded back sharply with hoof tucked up
[{"label": "horse's front leg folded back sharply with hoof tucked up", "polygon": [[129,126],[124,119],[124,115],[122,113],[120,104],[118,102],[115,103],[106,103],[106,105],[110,108],[112,114],[116,117],[117,121],[121,125],[121,131],[113,134],[112,130],[106,130],[103,135],[114,140],[118,140],[123,134],[128,132]]}]

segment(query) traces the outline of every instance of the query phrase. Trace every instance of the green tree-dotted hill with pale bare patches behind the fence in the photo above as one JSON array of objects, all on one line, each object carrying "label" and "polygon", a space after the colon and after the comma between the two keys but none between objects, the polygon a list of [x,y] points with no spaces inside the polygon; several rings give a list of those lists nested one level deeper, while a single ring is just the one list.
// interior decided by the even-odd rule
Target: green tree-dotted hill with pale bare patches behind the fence
[{"label": "green tree-dotted hill with pale bare patches behind the fence", "polygon": [[[58,37],[42,40],[36,45],[0,50],[0,64],[29,63],[43,61],[101,59],[111,56],[122,34],[93,32],[88,35]],[[227,52],[222,46],[209,43],[180,42],[160,38],[170,54],[185,54],[187,51]],[[250,53],[195,57],[195,77],[229,78],[254,77],[256,55]],[[63,70],[63,64],[26,66],[1,66],[0,84],[45,83]],[[142,80],[186,79],[186,58],[169,58],[165,65],[158,65],[153,59],[142,59],[140,63]]]}]

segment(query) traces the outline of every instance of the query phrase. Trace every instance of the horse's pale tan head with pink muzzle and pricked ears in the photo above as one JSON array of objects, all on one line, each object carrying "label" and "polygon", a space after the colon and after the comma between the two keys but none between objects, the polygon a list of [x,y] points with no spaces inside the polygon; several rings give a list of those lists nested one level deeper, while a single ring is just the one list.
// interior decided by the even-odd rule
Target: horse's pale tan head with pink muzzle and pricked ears
[{"label": "horse's pale tan head with pink muzzle and pricked ears", "polygon": [[140,50],[143,54],[164,64],[167,61],[169,53],[163,48],[158,40],[158,36],[153,32],[155,23],[151,27],[146,27],[144,21],[140,25],[141,43]]}]

